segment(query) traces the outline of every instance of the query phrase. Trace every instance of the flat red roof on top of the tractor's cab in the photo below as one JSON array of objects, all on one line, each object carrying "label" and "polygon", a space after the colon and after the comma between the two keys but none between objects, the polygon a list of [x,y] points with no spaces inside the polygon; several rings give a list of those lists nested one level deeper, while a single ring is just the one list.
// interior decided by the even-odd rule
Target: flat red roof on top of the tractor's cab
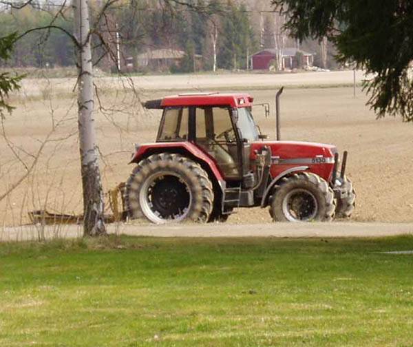
[{"label": "flat red roof on top of the tractor's cab", "polygon": [[242,93],[184,93],[147,101],[144,106],[151,109],[179,106],[229,106],[235,108],[251,107],[253,100],[249,94]]}]

